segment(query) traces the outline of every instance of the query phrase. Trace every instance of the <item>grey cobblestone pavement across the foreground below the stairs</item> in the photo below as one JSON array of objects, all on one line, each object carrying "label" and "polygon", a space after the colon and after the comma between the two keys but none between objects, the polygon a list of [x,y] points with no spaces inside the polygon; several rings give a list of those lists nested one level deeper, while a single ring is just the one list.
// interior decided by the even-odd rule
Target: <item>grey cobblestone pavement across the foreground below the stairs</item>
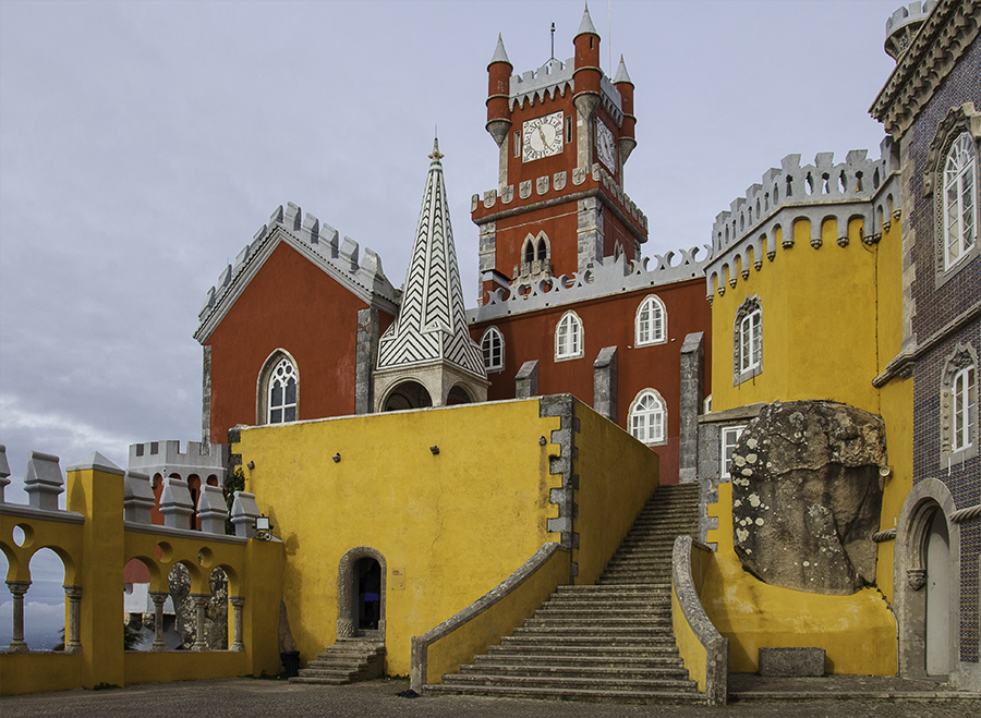
[{"label": "grey cobblestone pavement across the foreground below the stairs", "polygon": [[[872,679],[876,680],[876,679]],[[759,684],[758,684],[759,685]],[[404,718],[507,716],[508,718],[583,718],[662,716],[738,716],[760,718],[966,718],[981,715],[981,699],[834,699],[752,701],[720,708],[705,705],[620,705],[434,696],[402,698],[407,680],[379,679],[353,685],[291,685],[279,680],[233,678],[132,685],[102,691],[65,691],[0,698],[3,718],[20,716],[344,716]],[[834,695],[833,683],[825,685]]]}]

